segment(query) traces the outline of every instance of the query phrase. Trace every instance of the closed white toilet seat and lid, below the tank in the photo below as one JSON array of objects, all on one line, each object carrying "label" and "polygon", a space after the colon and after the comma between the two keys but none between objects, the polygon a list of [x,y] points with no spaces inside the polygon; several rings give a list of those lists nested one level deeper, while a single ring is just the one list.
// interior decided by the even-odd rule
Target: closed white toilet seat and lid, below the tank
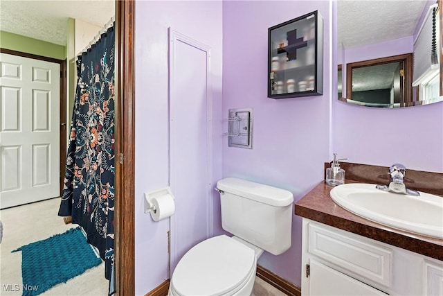
[{"label": "closed white toilet seat and lid, below the tank", "polygon": [[177,264],[170,282],[174,295],[233,295],[256,269],[255,252],[226,235],[192,247]]}]

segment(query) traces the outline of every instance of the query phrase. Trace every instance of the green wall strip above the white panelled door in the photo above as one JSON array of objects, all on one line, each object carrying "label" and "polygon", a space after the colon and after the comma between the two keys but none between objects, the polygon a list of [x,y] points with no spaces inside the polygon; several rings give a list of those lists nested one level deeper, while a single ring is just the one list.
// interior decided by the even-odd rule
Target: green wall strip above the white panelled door
[{"label": "green wall strip above the white panelled door", "polygon": [[57,60],[66,59],[66,46],[5,31],[0,31],[0,47],[2,49],[10,49],[12,51],[42,55],[44,57],[55,58]]}]

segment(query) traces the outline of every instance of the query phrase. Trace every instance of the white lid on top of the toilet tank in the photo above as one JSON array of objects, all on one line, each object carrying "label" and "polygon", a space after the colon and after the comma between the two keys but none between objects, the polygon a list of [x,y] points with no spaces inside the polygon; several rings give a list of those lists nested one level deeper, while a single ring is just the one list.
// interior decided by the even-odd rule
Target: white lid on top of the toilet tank
[{"label": "white lid on top of the toilet tank", "polygon": [[293,202],[293,195],[287,190],[234,177],[219,180],[217,189],[274,207],[286,207]]}]

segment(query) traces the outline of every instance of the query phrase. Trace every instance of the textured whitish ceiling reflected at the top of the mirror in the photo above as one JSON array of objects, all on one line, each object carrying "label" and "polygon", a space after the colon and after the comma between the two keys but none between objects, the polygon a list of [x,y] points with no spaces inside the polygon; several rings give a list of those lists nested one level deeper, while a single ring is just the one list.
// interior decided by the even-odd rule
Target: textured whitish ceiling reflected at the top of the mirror
[{"label": "textured whitish ceiling reflected at the top of the mirror", "polygon": [[338,0],[338,46],[345,49],[414,35],[426,0]]}]

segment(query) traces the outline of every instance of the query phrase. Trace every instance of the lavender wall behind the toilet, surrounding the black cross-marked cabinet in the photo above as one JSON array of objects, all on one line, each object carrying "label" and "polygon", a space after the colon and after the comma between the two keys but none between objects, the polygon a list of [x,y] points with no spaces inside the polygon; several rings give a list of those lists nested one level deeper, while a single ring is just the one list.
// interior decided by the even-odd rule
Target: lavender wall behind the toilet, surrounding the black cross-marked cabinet
[{"label": "lavender wall behind the toilet, surrounding the black cross-marked cabinet", "polygon": [[[274,100],[266,96],[267,28],[318,10],[324,26],[324,94]],[[223,2],[223,114],[253,108],[253,149],[223,141],[223,176],[241,177],[291,191],[299,200],[323,180],[329,159],[329,2]],[[224,125],[227,130],[227,126]],[[259,264],[300,286],[301,218],[293,216],[292,246]]]}]

